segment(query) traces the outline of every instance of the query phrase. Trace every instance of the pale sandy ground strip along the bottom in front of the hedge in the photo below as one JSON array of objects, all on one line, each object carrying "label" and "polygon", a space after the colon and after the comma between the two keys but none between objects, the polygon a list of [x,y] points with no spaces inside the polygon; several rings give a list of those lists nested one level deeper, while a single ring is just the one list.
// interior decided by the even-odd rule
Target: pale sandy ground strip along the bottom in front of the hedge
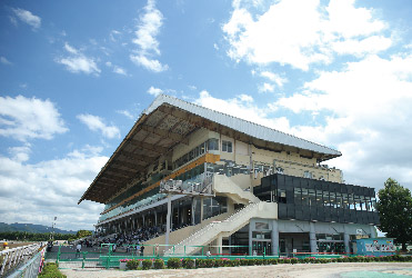
[{"label": "pale sandy ground strip along the bottom in front of the hedge", "polygon": [[326,265],[275,265],[252,267],[223,267],[201,269],[162,269],[162,270],[102,270],[102,269],[62,269],[68,278],[77,277],[222,277],[222,278],[261,278],[261,277],[305,277],[305,278],[368,278],[368,277],[412,277],[412,262],[334,262]]}]

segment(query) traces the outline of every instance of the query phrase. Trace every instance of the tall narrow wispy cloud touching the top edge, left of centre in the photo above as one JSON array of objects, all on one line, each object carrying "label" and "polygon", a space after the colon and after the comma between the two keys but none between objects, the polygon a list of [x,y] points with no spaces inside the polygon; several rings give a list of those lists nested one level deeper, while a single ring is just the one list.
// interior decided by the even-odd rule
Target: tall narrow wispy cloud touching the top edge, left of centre
[{"label": "tall narrow wispy cloud touching the top edge, left of centre", "polygon": [[134,32],[133,43],[138,46],[135,53],[130,59],[145,69],[153,72],[168,70],[168,64],[162,64],[153,57],[160,56],[159,41],[157,36],[163,24],[163,14],[155,8],[154,0],[148,0],[144,13],[140,16],[138,30]]}]

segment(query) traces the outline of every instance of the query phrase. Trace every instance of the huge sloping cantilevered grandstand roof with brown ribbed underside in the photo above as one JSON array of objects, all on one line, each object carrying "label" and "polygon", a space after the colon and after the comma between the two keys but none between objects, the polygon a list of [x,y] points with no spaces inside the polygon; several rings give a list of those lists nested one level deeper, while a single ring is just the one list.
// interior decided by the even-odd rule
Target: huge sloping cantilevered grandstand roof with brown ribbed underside
[{"label": "huge sloping cantilevered grandstand roof with brown ribbed underside", "polygon": [[[79,203],[87,199],[109,202],[137,180],[144,180],[148,167],[179,143],[189,143],[189,135],[207,128],[237,140],[275,151],[292,150],[324,161],[341,152],[247,120],[160,95],[143,111],[123,141],[94,178]],[[142,185],[143,190],[150,185]]]}]

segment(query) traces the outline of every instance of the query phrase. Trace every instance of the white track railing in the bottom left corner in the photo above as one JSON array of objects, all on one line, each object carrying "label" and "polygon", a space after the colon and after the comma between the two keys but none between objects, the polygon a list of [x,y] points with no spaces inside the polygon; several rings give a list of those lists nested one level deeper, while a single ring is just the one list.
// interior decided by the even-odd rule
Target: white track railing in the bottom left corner
[{"label": "white track railing in the bottom left corner", "polygon": [[39,248],[40,244],[33,244],[0,251],[0,277],[20,262],[26,262]]}]

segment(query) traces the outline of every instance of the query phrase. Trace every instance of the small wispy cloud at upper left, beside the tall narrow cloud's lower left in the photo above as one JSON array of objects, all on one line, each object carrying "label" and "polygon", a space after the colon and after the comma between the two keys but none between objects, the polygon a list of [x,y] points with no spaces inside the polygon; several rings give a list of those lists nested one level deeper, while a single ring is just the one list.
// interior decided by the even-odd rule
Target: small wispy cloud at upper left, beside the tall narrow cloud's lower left
[{"label": "small wispy cloud at upper left, beside the tall narrow cloud's lower left", "polygon": [[100,75],[100,69],[97,66],[93,58],[84,56],[82,52],[71,47],[69,43],[64,43],[64,49],[71,54],[66,58],[57,58],[56,62],[64,64],[66,68],[74,73],[83,72],[87,75]]}]

